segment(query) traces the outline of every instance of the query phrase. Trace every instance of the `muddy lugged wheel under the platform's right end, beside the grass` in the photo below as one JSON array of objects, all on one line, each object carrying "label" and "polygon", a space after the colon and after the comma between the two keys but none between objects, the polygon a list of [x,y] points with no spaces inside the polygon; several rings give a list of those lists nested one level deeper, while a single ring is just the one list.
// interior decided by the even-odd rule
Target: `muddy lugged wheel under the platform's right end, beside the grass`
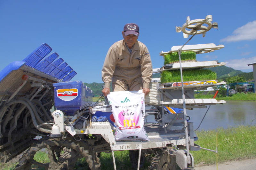
[{"label": "muddy lugged wheel under the platform's right end, beside the grass", "polygon": [[164,151],[157,151],[155,156],[151,159],[149,170],[176,170],[175,156],[168,155]]}]

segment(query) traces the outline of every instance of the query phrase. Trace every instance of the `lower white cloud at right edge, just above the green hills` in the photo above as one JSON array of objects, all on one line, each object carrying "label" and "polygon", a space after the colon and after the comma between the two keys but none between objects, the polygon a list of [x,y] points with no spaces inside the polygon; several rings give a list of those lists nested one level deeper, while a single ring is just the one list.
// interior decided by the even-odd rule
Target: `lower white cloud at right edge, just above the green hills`
[{"label": "lower white cloud at right edge, just above the green hills", "polygon": [[250,58],[232,59],[225,61],[227,67],[231,67],[236,70],[251,69],[252,66],[247,64],[256,62],[256,56]]}]

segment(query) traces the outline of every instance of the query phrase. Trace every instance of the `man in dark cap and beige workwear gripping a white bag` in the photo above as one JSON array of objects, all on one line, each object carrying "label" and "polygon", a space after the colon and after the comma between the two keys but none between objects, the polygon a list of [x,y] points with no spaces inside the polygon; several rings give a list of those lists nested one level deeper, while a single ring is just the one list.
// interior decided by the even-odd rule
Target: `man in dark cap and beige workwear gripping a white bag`
[{"label": "man in dark cap and beige workwear gripping a white bag", "polygon": [[122,34],[124,40],[117,41],[109,48],[103,64],[103,95],[110,93],[111,79],[114,92],[138,91],[143,88],[143,93],[148,95],[153,70],[148,48],[137,40],[139,26],[126,24]]}]

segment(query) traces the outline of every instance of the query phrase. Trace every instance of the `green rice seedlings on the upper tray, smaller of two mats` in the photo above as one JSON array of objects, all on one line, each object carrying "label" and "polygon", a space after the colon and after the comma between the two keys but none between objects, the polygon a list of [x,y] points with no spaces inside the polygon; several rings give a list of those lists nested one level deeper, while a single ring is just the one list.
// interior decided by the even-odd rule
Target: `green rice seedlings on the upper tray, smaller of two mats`
[{"label": "green rice seedlings on the upper tray, smaller of two mats", "polygon": [[[193,51],[181,51],[181,61],[196,61],[196,53]],[[180,61],[178,52],[164,55],[164,64],[176,63]]]}]

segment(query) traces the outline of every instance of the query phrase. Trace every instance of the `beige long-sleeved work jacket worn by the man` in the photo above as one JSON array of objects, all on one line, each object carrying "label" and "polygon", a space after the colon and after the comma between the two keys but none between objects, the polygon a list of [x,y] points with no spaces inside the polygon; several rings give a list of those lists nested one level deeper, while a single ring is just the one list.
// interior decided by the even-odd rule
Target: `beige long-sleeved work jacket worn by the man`
[{"label": "beige long-sleeved work jacket worn by the man", "polygon": [[142,77],[143,88],[149,88],[153,70],[148,48],[137,41],[130,54],[124,40],[117,41],[109,48],[101,73],[106,88],[113,76],[129,82]]}]

